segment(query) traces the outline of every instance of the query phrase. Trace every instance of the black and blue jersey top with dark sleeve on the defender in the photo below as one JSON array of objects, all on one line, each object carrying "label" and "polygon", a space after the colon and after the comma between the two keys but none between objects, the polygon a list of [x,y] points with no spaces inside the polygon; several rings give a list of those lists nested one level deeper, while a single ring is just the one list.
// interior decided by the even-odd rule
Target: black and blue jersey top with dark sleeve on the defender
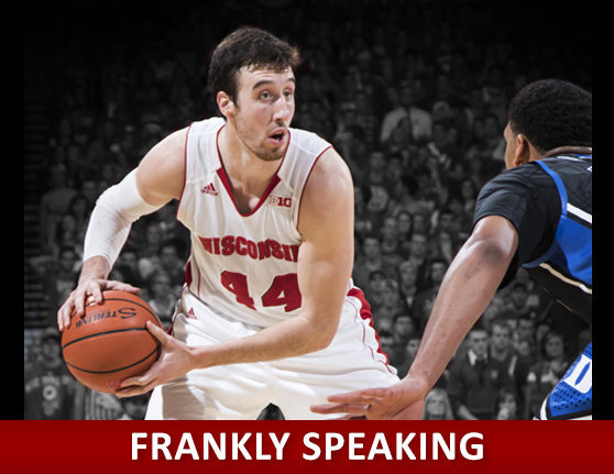
[{"label": "black and blue jersey top with dark sleeve on the defender", "polygon": [[502,216],[518,233],[504,285],[519,266],[592,322],[592,157],[562,155],[508,169],[481,190],[474,221]]}]

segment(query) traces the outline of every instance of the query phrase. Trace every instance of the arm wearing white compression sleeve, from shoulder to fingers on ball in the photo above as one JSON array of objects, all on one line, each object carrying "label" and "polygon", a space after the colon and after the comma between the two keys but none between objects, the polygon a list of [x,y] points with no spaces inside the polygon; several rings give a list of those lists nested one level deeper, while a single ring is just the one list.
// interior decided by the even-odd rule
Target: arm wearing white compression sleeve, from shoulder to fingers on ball
[{"label": "arm wearing white compression sleeve, from shoulder to fingers on ball", "polygon": [[135,169],[98,198],[86,232],[79,284],[57,313],[61,331],[69,324],[73,310],[77,316],[83,315],[87,295],[101,301],[105,289],[139,291],[131,285],[107,278],[132,222],[180,197],[186,134],[184,129],[162,140]]}]

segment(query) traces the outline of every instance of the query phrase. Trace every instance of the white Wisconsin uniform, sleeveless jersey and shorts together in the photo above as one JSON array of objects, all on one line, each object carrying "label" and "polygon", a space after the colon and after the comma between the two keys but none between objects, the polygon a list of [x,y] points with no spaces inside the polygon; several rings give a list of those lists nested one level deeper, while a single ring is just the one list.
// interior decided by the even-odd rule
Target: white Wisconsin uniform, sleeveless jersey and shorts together
[{"label": "white Wisconsin uniform, sleeveless jersey and shorts together", "polygon": [[[300,311],[296,277],[300,197],[314,165],[331,145],[289,130],[271,185],[248,214],[239,212],[218,150],[222,119],[190,125],[177,219],[191,231],[187,288],[173,335],[190,346],[249,338]],[[154,388],[146,419],[256,419],[275,404],[286,419],[325,419],[309,410],[337,393],[398,383],[381,352],[369,304],[348,278],[332,342],[274,361],[195,368]]]}]

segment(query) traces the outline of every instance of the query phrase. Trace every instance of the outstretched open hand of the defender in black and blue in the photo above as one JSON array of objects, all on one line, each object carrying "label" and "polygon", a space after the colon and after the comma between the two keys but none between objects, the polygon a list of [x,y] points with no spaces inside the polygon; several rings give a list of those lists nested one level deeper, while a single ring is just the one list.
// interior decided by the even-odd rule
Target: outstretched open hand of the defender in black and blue
[{"label": "outstretched open hand of the defender in black and blue", "polygon": [[419,420],[423,418],[427,385],[418,378],[404,378],[383,388],[366,388],[331,395],[328,405],[314,405],[321,415],[346,414],[368,420]]}]

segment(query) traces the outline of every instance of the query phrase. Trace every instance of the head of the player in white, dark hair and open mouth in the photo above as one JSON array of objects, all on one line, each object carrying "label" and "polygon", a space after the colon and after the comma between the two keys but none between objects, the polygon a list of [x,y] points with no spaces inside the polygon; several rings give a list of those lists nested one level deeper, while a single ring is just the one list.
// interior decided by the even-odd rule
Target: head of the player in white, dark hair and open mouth
[{"label": "head of the player in white, dark hair and open mouth", "polygon": [[295,111],[298,49],[263,30],[243,26],[216,47],[209,87],[241,142],[265,161],[283,156]]}]

